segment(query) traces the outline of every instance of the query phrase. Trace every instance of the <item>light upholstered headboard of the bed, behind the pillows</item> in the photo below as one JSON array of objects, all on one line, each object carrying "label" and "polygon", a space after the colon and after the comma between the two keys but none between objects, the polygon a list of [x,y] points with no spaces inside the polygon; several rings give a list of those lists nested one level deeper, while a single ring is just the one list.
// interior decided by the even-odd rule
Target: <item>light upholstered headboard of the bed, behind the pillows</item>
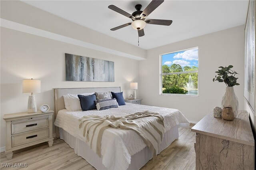
[{"label": "light upholstered headboard of the bed, behind the pillows", "polygon": [[[121,92],[121,87],[92,87],[92,88],[55,88],[55,118],[58,111],[65,109],[63,95],[67,94],[81,94],[81,93],[94,93],[94,92]],[[59,137],[59,129],[56,127],[56,137]]]}]

